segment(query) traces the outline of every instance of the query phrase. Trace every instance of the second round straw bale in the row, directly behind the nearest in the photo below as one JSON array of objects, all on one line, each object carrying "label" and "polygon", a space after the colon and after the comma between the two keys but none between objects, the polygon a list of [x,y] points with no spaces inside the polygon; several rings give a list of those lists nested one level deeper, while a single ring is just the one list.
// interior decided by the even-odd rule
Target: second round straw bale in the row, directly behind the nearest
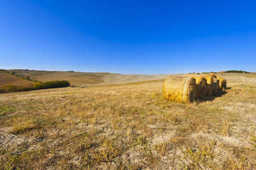
[{"label": "second round straw bale in the row, directly behind the nearest", "polygon": [[196,79],[196,84],[198,85],[197,96],[198,96],[198,98],[204,98],[206,96],[206,92],[207,92],[206,78],[201,77],[201,76],[186,76],[186,77],[192,77],[192,78]]}]

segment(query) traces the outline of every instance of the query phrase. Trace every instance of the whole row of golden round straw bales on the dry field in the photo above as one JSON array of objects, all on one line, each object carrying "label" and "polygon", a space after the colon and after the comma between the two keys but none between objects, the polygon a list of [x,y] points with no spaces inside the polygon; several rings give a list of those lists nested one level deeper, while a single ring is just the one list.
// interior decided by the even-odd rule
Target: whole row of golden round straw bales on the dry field
[{"label": "whole row of golden round straw bales on the dry field", "polygon": [[184,77],[167,77],[162,89],[165,99],[191,103],[205,96],[216,96],[226,89],[226,79],[208,74],[204,77],[186,75]]}]

